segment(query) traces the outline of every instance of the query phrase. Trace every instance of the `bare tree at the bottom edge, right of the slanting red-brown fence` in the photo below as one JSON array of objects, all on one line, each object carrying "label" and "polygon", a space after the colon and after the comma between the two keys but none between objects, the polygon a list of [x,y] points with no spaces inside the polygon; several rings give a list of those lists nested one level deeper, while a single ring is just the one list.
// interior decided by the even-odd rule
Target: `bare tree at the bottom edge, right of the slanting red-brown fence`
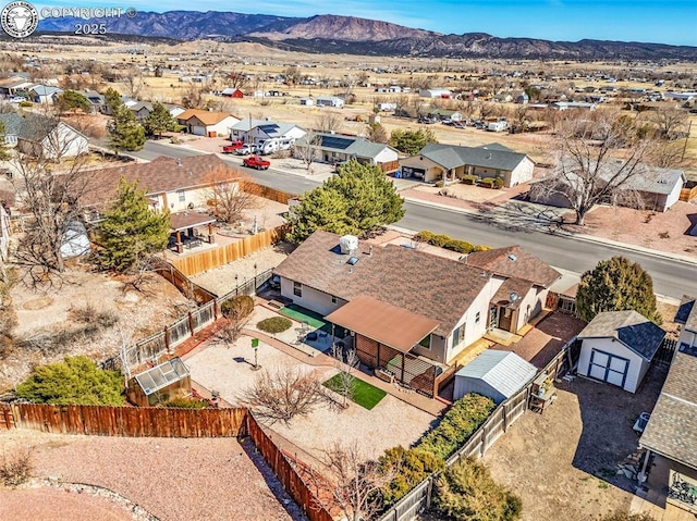
[{"label": "bare tree at the bottom edge, right of the slanting red-brown fence", "polygon": [[334,444],[325,451],[322,462],[329,476],[313,474],[309,480],[318,505],[327,510],[339,508],[350,521],[375,519],[382,507],[380,491],[394,474],[365,458],[357,443]]}]

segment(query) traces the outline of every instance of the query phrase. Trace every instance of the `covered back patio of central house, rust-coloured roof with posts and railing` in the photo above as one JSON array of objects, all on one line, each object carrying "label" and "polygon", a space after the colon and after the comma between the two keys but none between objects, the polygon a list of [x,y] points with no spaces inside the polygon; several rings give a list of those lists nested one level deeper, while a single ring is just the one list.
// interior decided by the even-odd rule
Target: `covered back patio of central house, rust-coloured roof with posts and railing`
[{"label": "covered back patio of central house, rust-coloured roof with posts and railing", "polygon": [[356,297],[326,320],[350,332],[360,362],[382,380],[433,398],[450,376],[447,365],[412,351],[430,343],[439,326],[435,320],[368,296]]}]

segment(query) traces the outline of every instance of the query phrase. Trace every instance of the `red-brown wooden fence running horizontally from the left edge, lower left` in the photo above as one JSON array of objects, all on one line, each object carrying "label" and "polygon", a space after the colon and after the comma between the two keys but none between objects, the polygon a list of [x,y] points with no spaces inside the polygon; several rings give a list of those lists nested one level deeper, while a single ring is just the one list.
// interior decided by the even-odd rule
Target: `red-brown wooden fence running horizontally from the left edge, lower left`
[{"label": "red-brown wooden fence running horizontally from the left edge, lower left", "polygon": [[127,437],[234,437],[243,434],[246,427],[247,410],[11,404],[0,406],[0,419],[3,415],[12,417],[14,426],[48,433]]}]

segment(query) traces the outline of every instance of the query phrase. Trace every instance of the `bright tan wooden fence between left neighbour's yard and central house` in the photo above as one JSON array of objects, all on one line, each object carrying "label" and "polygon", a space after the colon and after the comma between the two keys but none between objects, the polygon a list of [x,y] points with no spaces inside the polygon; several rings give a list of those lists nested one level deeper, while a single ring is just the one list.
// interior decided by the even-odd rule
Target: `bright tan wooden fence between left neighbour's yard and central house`
[{"label": "bright tan wooden fence between left neighbour's yard and central house", "polygon": [[181,259],[172,259],[171,263],[184,275],[196,275],[213,268],[218,268],[237,259],[242,259],[260,249],[274,245],[285,236],[285,226],[277,226],[250,235],[236,243],[231,243],[216,248],[188,255]]}]

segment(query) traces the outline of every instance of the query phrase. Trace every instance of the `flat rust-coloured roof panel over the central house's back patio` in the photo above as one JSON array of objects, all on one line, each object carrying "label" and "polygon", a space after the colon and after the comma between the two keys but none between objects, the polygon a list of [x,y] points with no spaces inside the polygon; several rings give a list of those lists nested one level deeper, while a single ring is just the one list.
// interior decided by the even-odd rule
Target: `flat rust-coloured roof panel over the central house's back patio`
[{"label": "flat rust-coloured roof panel over the central house's back patio", "polygon": [[411,351],[439,325],[435,320],[367,295],[354,298],[325,319],[402,352]]}]

